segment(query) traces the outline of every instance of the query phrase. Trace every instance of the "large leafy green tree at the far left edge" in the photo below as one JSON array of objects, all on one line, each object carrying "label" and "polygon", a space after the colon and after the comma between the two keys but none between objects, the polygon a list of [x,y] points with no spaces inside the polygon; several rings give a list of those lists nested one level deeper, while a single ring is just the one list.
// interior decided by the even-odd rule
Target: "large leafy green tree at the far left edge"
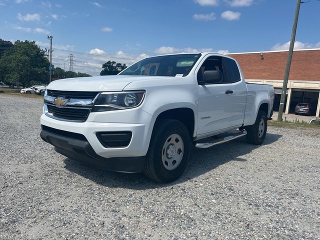
[{"label": "large leafy green tree at the far left edge", "polygon": [[17,40],[0,58],[0,78],[12,86],[47,83],[49,61],[34,41]]}]

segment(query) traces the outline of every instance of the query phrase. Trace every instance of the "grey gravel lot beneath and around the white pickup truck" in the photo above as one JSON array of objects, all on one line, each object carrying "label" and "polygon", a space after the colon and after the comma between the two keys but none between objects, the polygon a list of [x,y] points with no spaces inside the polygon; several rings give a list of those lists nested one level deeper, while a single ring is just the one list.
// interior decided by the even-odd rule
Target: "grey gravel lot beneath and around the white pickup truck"
[{"label": "grey gravel lot beneath and around the white pickup truck", "polygon": [[194,149],[182,177],[157,184],[56,153],[41,111],[0,93],[0,239],[320,239],[320,128]]}]

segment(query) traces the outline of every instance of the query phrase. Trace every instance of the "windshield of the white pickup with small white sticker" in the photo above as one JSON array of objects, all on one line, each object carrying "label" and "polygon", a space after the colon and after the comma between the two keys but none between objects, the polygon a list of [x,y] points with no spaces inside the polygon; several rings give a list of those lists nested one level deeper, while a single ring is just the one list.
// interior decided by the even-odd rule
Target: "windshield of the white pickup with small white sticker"
[{"label": "windshield of the white pickup with small white sticker", "polygon": [[148,57],[129,66],[119,75],[186,76],[200,55],[197,53]]}]

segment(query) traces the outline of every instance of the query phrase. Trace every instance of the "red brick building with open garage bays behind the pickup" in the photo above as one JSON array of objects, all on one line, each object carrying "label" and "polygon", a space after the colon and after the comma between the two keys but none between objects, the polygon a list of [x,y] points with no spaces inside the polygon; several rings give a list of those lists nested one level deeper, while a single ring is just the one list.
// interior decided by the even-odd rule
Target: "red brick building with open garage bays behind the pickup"
[{"label": "red brick building with open garage bays behind the pickup", "polygon": [[[247,82],[271,84],[275,97],[273,109],[278,110],[288,51],[229,53],[242,69]],[[311,103],[316,116],[320,114],[320,48],[294,50],[287,85],[285,113],[294,113],[299,102]]]}]

